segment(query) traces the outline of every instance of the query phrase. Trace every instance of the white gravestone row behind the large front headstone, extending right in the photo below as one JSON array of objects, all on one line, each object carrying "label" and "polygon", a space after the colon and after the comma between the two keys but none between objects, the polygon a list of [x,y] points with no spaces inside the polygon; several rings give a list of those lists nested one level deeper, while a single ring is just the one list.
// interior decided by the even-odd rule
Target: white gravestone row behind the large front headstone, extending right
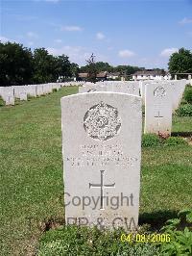
[{"label": "white gravestone row behind the large front headstone, extending right", "polygon": [[85,84],[79,93],[114,91],[141,95],[145,105],[145,133],[169,136],[172,113],[178,109],[187,80],[144,81],[144,82],[100,82]]}]

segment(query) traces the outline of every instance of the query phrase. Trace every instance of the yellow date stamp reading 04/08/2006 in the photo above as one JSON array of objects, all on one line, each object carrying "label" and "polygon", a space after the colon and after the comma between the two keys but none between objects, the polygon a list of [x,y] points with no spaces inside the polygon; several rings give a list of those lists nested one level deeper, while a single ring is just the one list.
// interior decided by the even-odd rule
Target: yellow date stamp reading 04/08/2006
[{"label": "yellow date stamp reading 04/08/2006", "polygon": [[122,234],[123,243],[169,243],[171,236],[169,234]]}]

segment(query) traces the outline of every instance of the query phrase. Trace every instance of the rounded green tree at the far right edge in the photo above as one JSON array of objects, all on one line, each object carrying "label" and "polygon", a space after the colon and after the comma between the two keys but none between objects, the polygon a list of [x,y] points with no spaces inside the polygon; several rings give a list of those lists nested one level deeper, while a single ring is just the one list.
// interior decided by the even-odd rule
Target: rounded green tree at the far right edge
[{"label": "rounded green tree at the far right edge", "polygon": [[191,73],[192,72],[192,53],[189,50],[180,48],[179,52],[173,53],[168,63],[169,72]]}]

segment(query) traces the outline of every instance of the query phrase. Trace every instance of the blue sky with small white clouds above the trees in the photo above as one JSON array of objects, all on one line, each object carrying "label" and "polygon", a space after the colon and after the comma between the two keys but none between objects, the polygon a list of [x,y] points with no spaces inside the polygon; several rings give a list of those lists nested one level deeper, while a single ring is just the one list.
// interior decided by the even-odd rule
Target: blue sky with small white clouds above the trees
[{"label": "blue sky with small white clouds above the trees", "polygon": [[46,48],[84,65],[165,68],[180,47],[192,50],[192,0],[1,0],[0,40]]}]

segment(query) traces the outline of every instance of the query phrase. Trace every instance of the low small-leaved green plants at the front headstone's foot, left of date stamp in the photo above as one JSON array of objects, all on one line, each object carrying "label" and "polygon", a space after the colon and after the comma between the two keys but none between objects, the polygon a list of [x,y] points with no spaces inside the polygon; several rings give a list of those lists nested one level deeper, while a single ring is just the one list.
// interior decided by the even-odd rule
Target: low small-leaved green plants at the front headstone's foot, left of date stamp
[{"label": "low small-leaved green plants at the front headstone's foot, left of date stamp", "polygon": [[77,226],[50,230],[41,238],[37,255],[158,255],[154,244],[121,242],[122,232]]}]

